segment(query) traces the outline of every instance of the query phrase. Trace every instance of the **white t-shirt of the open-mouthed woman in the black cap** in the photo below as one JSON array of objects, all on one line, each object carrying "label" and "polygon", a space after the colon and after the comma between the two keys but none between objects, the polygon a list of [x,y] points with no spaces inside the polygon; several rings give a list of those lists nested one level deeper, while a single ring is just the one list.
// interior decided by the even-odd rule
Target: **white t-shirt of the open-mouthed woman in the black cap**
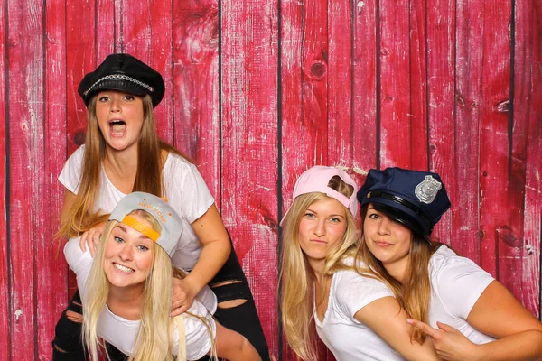
[{"label": "white t-shirt of the open-mouthed woman in the black cap", "polygon": [[[62,185],[77,194],[81,179],[81,167],[85,145],[71,154],[59,175]],[[192,270],[201,254],[201,243],[195,235],[191,224],[200,218],[214,203],[213,197],[201,178],[201,174],[191,162],[177,154],[169,153],[163,171],[165,198],[185,221],[182,225],[182,236],[177,244],[177,252],[172,263],[184,270]],[[100,192],[94,210],[111,213],[120,199],[126,194],[117,190],[107,179],[106,171],[101,167]]]}]

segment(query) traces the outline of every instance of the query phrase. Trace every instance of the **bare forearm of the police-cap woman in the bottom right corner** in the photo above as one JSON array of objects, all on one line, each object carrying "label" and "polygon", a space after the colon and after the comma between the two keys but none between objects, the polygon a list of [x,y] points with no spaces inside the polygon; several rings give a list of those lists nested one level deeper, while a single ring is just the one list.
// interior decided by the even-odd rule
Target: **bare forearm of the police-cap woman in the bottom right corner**
[{"label": "bare forearm of the police-cap woman in the bottom right corner", "polygon": [[478,345],[476,359],[485,361],[542,360],[542,332],[528,330]]}]

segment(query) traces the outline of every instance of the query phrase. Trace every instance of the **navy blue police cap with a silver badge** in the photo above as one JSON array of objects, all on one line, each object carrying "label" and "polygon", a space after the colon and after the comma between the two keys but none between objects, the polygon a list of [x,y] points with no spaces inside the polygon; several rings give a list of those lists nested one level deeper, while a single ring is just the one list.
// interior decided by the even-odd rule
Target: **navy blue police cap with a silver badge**
[{"label": "navy blue police cap with a silver badge", "polygon": [[371,169],[358,191],[360,205],[371,203],[404,225],[431,235],[433,227],[451,206],[437,173],[401,168]]}]

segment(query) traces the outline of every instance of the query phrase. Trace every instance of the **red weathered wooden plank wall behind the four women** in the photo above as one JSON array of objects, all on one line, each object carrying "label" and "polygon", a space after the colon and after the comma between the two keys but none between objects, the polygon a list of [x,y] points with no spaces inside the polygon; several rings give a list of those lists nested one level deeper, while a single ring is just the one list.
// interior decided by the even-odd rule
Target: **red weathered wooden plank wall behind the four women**
[{"label": "red weathered wooden plank wall behind the four women", "polygon": [[435,236],[539,317],[542,0],[9,0],[0,19],[0,360],[51,358],[76,89],[121,51],[164,75],[159,133],[216,196],[279,359],[277,221],[314,164],[438,171]]}]

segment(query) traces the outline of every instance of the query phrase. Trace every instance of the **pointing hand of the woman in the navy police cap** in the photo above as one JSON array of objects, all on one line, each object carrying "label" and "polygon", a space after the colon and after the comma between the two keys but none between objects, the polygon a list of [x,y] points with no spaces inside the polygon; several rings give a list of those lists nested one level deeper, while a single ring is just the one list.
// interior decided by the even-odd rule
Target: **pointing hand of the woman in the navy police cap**
[{"label": "pointing hand of the woman in the navy police cap", "polygon": [[477,345],[466,338],[463,333],[445,323],[436,322],[438,329],[433,329],[417,319],[406,319],[406,322],[420,329],[433,341],[436,354],[444,360],[462,361],[476,360]]}]

